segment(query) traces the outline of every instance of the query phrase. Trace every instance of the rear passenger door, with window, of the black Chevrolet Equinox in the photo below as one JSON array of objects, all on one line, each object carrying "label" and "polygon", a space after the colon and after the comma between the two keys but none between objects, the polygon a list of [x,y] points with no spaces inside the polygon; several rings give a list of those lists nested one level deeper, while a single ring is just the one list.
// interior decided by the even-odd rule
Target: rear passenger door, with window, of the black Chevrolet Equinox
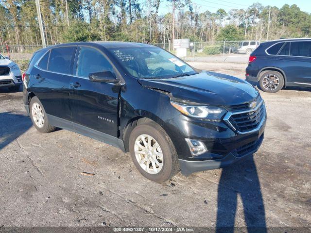
[{"label": "rear passenger door, with window, of the black Chevrolet Equinox", "polygon": [[48,50],[31,71],[29,83],[29,90],[39,98],[48,115],[69,122],[69,81],[75,50],[74,46]]}]

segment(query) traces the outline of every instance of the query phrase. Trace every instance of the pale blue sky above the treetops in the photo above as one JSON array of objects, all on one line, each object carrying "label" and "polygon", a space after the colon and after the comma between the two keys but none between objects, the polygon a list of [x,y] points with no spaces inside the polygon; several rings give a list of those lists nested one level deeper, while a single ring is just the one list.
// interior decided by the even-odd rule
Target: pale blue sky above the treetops
[{"label": "pale blue sky above the treetops", "polygon": [[[229,12],[231,9],[234,8],[247,8],[249,5],[253,4],[254,2],[259,2],[264,6],[276,6],[281,8],[284,4],[296,4],[300,10],[306,11],[311,13],[311,3],[310,0],[191,0],[192,4],[200,9],[200,12],[210,11],[216,12],[217,9],[223,8],[226,12]],[[169,2],[163,0],[160,4],[159,14],[165,14],[171,12],[171,8],[169,7]]]}]

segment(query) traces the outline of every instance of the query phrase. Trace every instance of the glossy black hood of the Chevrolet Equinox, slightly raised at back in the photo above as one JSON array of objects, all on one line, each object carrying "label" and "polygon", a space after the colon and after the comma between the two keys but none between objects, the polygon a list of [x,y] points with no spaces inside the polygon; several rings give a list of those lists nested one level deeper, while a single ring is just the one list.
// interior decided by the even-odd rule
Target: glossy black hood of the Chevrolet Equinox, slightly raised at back
[{"label": "glossy black hood of the Chevrolet Equinox, slightly raised at back", "polygon": [[148,88],[170,92],[174,98],[208,105],[237,105],[259,95],[259,91],[244,80],[209,71],[171,79],[140,79],[138,82]]}]

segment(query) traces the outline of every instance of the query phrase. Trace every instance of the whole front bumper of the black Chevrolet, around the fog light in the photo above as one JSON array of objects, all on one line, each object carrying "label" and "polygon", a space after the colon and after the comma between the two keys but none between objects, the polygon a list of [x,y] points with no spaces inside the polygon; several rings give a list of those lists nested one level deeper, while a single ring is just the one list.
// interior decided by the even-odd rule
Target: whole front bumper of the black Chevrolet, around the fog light
[{"label": "whole front bumper of the black Chevrolet, around the fog light", "polygon": [[[248,116],[252,117],[251,119],[260,117],[261,120],[258,122],[256,128],[248,130],[247,128],[243,128],[248,127],[248,122],[245,122],[246,126],[237,126],[234,120],[229,121],[230,124],[228,124],[225,121],[226,118],[230,118],[231,116],[228,113],[220,122],[206,122],[197,119],[190,120],[189,118],[187,120],[186,116],[174,117],[174,121],[171,121],[171,126],[174,124],[171,132],[174,130],[174,132],[178,133],[171,133],[170,137],[179,157],[182,174],[187,176],[197,171],[228,166],[245,156],[255,153],[259,149],[263,140],[267,119],[263,100],[252,110],[232,111],[228,113],[231,113],[237,120],[240,120],[241,117],[245,118]],[[256,112],[256,114],[252,112]],[[228,117],[226,117],[227,115]],[[238,128],[235,129],[231,123]],[[192,156],[185,138],[201,141],[206,146],[207,152]]]}]

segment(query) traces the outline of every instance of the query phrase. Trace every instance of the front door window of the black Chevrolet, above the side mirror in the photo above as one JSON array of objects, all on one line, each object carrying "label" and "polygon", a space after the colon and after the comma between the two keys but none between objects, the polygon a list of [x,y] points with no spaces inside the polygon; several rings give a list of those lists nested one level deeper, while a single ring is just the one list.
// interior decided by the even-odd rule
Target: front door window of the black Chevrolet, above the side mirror
[{"label": "front door window of the black Chevrolet, above the side mirror", "polygon": [[113,67],[100,51],[89,47],[81,47],[77,75],[88,78],[90,73],[101,71],[111,71],[114,73]]}]

